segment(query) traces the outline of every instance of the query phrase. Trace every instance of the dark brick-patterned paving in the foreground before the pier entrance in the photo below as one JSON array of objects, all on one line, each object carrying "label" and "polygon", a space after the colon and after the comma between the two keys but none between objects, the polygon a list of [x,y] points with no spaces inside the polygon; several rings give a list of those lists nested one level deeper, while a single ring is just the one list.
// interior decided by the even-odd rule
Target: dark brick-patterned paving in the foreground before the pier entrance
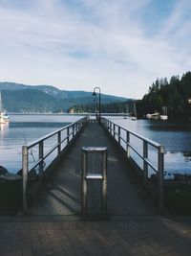
[{"label": "dark brick-patterned paving in the foreground before the pier entrance", "polygon": [[0,220],[1,256],[190,256],[191,219],[129,221]]}]

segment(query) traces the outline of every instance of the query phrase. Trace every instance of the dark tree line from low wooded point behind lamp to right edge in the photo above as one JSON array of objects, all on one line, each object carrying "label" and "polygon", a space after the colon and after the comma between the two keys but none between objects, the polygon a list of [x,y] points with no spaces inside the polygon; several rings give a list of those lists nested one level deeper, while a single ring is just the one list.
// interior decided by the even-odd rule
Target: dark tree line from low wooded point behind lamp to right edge
[{"label": "dark tree line from low wooded point behind lamp to right edge", "polygon": [[[166,78],[157,79],[149,87],[147,94],[141,100],[128,100],[123,103],[101,104],[102,113],[133,112],[133,103],[136,102],[138,118],[144,118],[148,113],[159,112],[167,108],[168,117],[172,120],[188,120],[191,116],[191,72],[180,76],[173,76],[169,81]],[[96,103],[92,105],[74,105],[69,109],[74,112],[95,112]]]}]

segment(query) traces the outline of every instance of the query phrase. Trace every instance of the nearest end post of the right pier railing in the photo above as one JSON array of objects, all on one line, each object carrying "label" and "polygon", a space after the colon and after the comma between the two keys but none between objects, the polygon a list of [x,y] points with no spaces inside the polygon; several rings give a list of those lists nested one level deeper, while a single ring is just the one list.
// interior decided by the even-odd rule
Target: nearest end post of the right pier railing
[{"label": "nearest end post of the right pier railing", "polygon": [[164,148],[158,149],[158,170],[159,170],[159,209],[163,208],[164,191],[163,191],[163,172],[164,172]]}]

